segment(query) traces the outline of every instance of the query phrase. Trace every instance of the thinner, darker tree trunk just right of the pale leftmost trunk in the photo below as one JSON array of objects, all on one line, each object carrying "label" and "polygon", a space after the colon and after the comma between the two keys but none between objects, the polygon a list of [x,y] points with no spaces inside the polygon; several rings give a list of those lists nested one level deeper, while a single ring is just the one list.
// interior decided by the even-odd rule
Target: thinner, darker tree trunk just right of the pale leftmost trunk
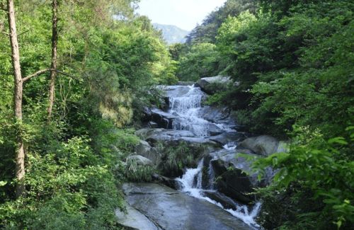
[{"label": "thinner, darker tree trunk just right of the pale leftmost trunk", "polygon": [[55,100],[55,79],[57,78],[57,45],[58,45],[58,3],[52,0],[52,64],[50,66],[50,89],[49,89],[49,105],[48,105],[48,122],[52,116],[52,110]]}]

